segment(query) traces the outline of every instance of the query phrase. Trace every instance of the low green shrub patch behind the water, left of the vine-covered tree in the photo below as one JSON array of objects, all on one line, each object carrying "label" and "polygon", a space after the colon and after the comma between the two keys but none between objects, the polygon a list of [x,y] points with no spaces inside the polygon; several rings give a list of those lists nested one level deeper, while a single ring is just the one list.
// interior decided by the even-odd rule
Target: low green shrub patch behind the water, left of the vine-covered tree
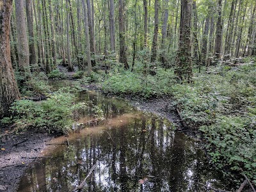
[{"label": "low green shrub patch behind the water, left of the vine-covered tree", "polygon": [[170,94],[170,86],[174,83],[172,70],[156,70],[156,76],[141,76],[129,71],[110,73],[102,83],[104,92],[120,95],[138,95],[140,97],[159,97]]}]

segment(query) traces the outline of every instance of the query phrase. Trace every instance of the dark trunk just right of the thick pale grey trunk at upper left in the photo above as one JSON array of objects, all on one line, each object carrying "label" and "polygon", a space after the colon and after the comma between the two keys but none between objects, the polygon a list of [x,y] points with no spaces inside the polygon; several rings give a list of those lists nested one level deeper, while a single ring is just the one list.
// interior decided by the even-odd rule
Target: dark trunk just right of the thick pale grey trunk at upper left
[{"label": "dark trunk just right of the thick pale grey trunk at upper left", "polygon": [[27,24],[28,24],[28,34],[29,34],[29,63],[36,64],[36,48],[34,42],[34,28],[33,28],[33,18],[32,18],[32,6],[31,0],[26,0],[26,14],[27,14]]}]

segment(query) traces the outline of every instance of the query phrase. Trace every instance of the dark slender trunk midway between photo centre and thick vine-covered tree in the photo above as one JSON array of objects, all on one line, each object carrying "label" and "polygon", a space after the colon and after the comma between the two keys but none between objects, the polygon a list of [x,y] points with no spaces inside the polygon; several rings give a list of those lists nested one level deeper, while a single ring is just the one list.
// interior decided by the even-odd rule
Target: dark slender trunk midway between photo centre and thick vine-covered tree
[{"label": "dark slender trunk midway between photo centre and thick vine-covered tree", "polygon": [[159,0],[155,0],[155,24],[154,24],[154,35],[152,41],[152,56],[151,56],[151,63],[156,61],[157,55],[157,36],[158,36],[158,27],[159,27],[159,20],[158,20],[158,11],[159,11]]}]

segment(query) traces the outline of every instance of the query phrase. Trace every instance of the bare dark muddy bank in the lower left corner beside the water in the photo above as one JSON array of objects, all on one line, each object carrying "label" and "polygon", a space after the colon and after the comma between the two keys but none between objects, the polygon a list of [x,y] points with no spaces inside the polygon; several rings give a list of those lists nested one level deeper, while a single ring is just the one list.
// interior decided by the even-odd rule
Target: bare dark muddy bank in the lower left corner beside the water
[{"label": "bare dark muddy bank in the lower left corner beside the water", "polygon": [[8,127],[1,130],[0,191],[13,192],[29,163],[40,158],[46,142],[53,136],[33,130],[15,134]]}]

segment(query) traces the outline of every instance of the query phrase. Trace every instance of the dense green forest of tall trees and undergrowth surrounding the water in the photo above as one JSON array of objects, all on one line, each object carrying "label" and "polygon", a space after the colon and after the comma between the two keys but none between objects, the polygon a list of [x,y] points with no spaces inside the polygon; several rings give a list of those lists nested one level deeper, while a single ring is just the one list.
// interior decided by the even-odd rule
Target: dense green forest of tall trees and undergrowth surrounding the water
[{"label": "dense green forest of tall trees and undergrowth surrounding the water", "polygon": [[[255,56],[255,0],[0,0],[1,132],[68,134],[86,105],[74,92],[90,88],[166,99],[211,163],[253,189]],[[76,91],[53,93],[51,79]]]}]

